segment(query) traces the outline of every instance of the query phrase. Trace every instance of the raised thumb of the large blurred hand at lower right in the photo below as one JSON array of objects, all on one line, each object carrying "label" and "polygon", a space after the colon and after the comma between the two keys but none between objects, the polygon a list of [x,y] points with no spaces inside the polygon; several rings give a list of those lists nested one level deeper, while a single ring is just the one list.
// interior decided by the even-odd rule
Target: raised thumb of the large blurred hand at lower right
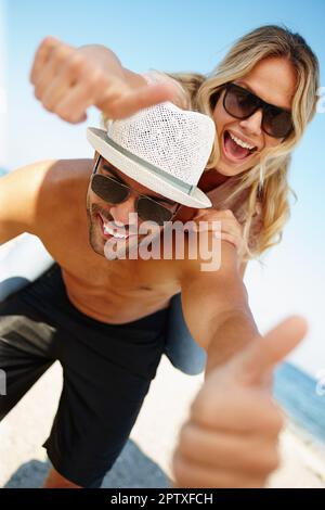
[{"label": "raised thumb of the large blurred hand at lower right", "polygon": [[284,320],[262,337],[255,339],[236,358],[236,373],[242,381],[260,384],[306,335],[308,326],[299,316]]}]

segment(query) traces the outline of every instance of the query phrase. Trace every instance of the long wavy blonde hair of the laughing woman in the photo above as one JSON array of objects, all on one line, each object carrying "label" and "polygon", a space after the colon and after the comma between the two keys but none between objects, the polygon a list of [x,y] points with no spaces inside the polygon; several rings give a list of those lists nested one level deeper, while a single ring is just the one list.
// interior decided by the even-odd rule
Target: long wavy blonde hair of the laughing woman
[{"label": "long wavy blonde hair of the laughing woman", "polygon": [[[238,39],[209,75],[169,74],[183,86],[191,107],[212,117],[224,85],[244,77],[258,62],[271,56],[288,59],[296,71],[297,86],[291,109],[294,131],[283,143],[264,150],[259,164],[239,176],[235,191],[229,196],[231,202],[234,195],[249,189],[244,226],[246,259],[260,255],[282,239],[289,217],[291,189],[287,177],[290,153],[316,111],[320,80],[317,59],[299,34],[291,33],[287,27],[265,25]],[[214,144],[207,169],[216,168],[219,153],[219,146]],[[262,206],[263,221],[255,243],[251,243],[249,232],[258,203]]]}]

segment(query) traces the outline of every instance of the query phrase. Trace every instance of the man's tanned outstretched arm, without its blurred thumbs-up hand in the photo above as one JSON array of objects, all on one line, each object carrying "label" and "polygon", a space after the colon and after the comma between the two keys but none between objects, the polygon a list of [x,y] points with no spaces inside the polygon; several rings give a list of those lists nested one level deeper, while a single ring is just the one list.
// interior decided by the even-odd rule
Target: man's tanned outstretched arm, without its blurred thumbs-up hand
[{"label": "man's tanned outstretched arm, without its blurred thumbs-up hand", "polygon": [[187,260],[181,278],[186,324],[207,352],[206,374],[258,336],[238,267],[235,247],[222,241],[219,270],[202,271],[202,260]]}]

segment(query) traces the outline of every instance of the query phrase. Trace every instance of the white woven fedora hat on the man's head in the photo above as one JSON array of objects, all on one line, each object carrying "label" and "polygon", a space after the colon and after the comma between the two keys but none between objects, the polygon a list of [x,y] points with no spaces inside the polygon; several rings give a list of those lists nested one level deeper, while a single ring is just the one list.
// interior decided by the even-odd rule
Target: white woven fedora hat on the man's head
[{"label": "white woven fedora hat on the man's head", "polygon": [[170,102],[88,128],[93,149],[131,179],[188,207],[210,207],[197,182],[212,151],[213,120]]}]

